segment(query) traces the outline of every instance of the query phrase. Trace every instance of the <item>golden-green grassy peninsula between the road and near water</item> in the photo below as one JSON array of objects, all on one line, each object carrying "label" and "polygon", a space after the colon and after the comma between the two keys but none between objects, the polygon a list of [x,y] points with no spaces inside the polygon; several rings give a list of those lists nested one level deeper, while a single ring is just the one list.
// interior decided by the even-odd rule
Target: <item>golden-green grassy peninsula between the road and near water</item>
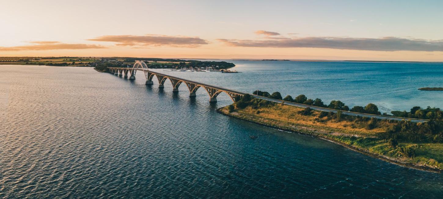
[{"label": "golden-green grassy peninsula between the road and near water", "polygon": [[425,123],[316,111],[245,95],[218,112],[285,131],[328,139],[363,154],[425,171],[443,170],[443,120]]}]

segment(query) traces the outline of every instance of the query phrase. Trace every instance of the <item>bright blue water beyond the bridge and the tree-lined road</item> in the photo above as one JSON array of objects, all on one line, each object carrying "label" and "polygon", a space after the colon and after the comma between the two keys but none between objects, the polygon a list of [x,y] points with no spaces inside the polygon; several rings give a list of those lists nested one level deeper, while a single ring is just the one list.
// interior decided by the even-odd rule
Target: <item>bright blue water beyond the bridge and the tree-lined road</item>
[{"label": "bright blue water beyond the bridge and the tree-lined road", "polygon": [[249,93],[259,89],[282,96],[304,94],[327,103],[341,100],[350,107],[375,103],[388,113],[413,106],[443,108],[443,92],[418,90],[443,87],[443,63],[224,61],[235,63],[233,70],[241,73],[164,73],[206,83],[217,80],[221,86]]}]

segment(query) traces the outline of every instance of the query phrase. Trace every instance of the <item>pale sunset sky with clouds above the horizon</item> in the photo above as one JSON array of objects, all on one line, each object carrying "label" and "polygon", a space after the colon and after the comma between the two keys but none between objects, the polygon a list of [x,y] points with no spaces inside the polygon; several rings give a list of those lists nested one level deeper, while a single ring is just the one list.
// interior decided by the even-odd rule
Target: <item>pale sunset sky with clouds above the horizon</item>
[{"label": "pale sunset sky with clouds above the horizon", "polygon": [[0,0],[0,56],[443,61],[441,0]]}]

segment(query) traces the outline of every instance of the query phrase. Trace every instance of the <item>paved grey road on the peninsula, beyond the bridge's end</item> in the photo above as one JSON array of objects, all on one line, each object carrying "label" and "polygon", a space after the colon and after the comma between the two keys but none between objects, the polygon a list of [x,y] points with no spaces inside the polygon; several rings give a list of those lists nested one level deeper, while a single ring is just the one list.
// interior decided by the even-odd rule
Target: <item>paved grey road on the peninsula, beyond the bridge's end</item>
[{"label": "paved grey road on the peninsula, beyond the bridge's end", "polygon": [[[335,110],[335,109],[315,107],[315,106],[310,106],[310,105],[306,105],[306,104],[302,104],[302,103],[293,103],[293,102],[288,102],[288,101],[283,101],[283,100],[276,100],[276,99],[263,97],[263,96],[254,95],[253,97],[258,98],[258,99],[262,99],[262,100],[268,100],[268,101],[275,102],[275,103],[283,103],[284,102],[284,104],[287,104],[290,106],[295,106],[295,107],[303,107],[303,108],[310,107],[311,109],[318,110],[318,111],[329,111],[329,112],[334,112],[334,113],[337,112],[337,110]],[[392,116],[385,116],[385,115],[371,115],[371,114],[356,113],[356,112],[350,112],[350,111],[342,111],[342,114],[361,116],[361,117],[370,117],[370,118],[377,118],[377,119],[399,120],[399,121],[401,121],[403,119],[411,119],[411,122],[427,122],[427,121],[429,121],[429,119],[414,119],[414,118],[392,117]]]}]

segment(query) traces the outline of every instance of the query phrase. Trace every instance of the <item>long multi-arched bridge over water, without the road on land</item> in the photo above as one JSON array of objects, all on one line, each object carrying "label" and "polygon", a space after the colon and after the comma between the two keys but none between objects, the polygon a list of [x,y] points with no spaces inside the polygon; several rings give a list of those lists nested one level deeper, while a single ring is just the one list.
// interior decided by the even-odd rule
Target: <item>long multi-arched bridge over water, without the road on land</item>
[{"label": "long multi-arched bridge over water, without the road on land", "polygon": [[132,68],[109,68],[109,72],[113,73],[114,75],[117,76],[124,75],[125,78],[128,78],[129,75],[130,80],[136,79],[137,71],[144,72],[144,76],[146,77],[146,85],[154,84],[154,82],[152,81],[154,76],[157,77],[157,80],[159,82],[159,88],[163,88],[165,81],[170,80],[173,87],[172,92],[179,92],[179,86],[182,83],[186,84],[189,90],[189,96],[191,97],[195,96],[195,92],[197,92],[198,88],[204,88],[209,95],[210,102],[216,102],[217,96],[222,92],[228,94],[233,102],[236,102],[237,99],[240,99],[243,95],[246,94],[231,89],[216,87],[209,84],[202,84],[191,80],[185,80],[175,76],[165,75],[159,72],[153,72],[148,70],[148,65],[146,65],[146,63],[144,63],[143,61],[136,61],[136,63]]}]

